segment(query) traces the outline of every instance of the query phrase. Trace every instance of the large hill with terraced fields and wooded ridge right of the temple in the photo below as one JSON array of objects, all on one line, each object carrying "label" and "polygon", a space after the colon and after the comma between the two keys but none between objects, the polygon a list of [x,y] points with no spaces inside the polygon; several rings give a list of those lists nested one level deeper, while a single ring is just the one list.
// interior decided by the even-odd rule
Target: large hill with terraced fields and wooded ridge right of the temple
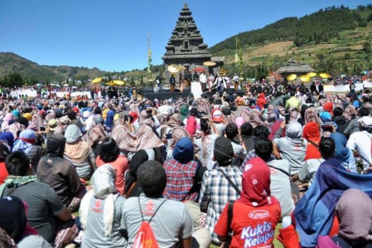
[{"label": "large hill with terraced fields and wooded ridge right of the temple", "polygon": [[212,55],[226,57],[224,70],[230,75],[238,73],[235,37],[244,76],[249,78],[262,78],[289,59],[331,74],[372,70],[372,4],[354,10],[333,6],[299,19],[288,17],[212,46]]}]

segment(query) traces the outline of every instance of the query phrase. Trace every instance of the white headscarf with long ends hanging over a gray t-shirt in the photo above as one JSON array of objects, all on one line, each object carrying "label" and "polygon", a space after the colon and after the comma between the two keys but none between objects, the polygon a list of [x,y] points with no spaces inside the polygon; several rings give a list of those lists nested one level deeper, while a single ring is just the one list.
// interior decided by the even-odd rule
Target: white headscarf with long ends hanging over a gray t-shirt
[{"label": "white headscarf with long ends hanging over a gray t-shirt", "polygon": [[90,202],[94,196],[96,199],[105,199],[105,206],[103,207],[103,226],[105,235],[112,236],[112,226],[115,213],[115,200],[119,193],[115,187],[116,172],[110,164],[104,164],[97,168],[92,175],[90,183],[92,190],[88,191],[80,204],[80,220],[81,225],[85,229],[87,226],[88,213]]}]

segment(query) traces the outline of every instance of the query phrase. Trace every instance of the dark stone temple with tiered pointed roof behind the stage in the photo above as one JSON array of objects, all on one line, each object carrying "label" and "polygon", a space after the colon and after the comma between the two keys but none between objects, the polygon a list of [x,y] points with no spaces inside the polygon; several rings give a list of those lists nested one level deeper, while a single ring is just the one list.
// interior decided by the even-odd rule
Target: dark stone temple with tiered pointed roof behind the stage
[{"label": "dark stone temple with tiered pointed roof behind the stage", "polygon": [[[171,64],[183,65],[192,74],[196,67],[203,67],[207,73],[218,72],[219,67],[221,67],[223,63],[224,57],[216,57],[212,59],[207,47],[208,45],[203,43],[203,37],[200,34],[200,30],[198,30],[195,25],[195,21],[191,16],[191,11],[189,10],[187,3],[183,4],[180,16],[176,22],[176,27],[172,32],[172,36],[165,47],[166,52],[162,57],[166,69],[164,71],[166,83],[169,82],[171,75],[171,73],[167,70],[167,67]],[[211,60],[217,63],[214,68],[203,65],[203,62]],[[178,76],[179,73],[176,74],[177,81]]]}]

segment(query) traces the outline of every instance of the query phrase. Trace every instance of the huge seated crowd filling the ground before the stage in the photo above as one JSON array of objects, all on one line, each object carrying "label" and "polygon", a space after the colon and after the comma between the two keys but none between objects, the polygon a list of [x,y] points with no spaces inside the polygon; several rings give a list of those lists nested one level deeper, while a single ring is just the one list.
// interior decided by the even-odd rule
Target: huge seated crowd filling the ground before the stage
[{"label": "huge seated crowd filling the ground before the stage", "polygon": [[371,92],[218,90],[1,96],[0,247],[372,247]]}]

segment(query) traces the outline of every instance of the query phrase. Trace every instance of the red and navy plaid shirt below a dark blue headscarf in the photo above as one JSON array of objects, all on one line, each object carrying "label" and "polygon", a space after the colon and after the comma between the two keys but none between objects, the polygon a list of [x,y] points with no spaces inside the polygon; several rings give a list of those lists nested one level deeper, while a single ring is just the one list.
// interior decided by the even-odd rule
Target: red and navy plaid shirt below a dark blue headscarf
[{"label": "red and navy plaid shirt below a dark blue headscarf", "polygon": [[191,187],[194,185],[194,177],[198,171],[199,164],[196,161],[190,161],[182,164],[175,159],[164,161],[165,173],[167,174],[167,186],[164,190],[164,197],[170,200],[196,201],[198,194],[193,193],[188,196]]}]

